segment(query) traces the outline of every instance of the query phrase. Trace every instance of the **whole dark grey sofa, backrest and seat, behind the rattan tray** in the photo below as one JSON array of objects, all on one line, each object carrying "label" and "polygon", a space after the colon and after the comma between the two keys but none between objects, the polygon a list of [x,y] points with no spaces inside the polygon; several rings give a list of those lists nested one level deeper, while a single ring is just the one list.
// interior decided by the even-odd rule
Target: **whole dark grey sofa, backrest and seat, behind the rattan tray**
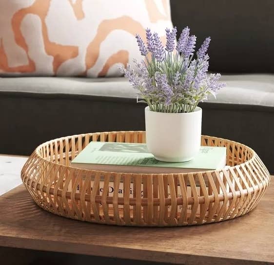
[{"label": "whole dark grey sofa, backrest and seat, behind the rattan tray", "polygon": [[[179,31],[189,25],[200,42],[211,35],[210,70],[224,72],[227,83],[200,104],[202,133],[249,145],[274,173],[274,2],[172,0],[171,7]],[[135,92],[122,77],[0,78],[0,153],[29,155],[72,134],[144,130]]]}]

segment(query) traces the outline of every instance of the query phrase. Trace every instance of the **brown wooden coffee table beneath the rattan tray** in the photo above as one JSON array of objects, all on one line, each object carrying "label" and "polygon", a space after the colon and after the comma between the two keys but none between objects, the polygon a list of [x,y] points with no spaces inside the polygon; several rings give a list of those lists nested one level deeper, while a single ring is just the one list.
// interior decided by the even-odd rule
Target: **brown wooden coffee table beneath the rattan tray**
[{"label": "brown wooden coffee table beneath the rattan tray", "polygon": [[[13,251],[20,251],[24,258],[51,251],[59,252],[56,255],[62,252],[59,265],[72,264],[72,259],[66,258],[72,253],[78,255],[74,261],[91,257],[95,264],[103,264],[108,258],[115,259],[107,263],[123,265],[154,264],[148,261],[182,265],[274,264],[273,205],[271,183],[253,212],[233,220],[182,228],[117,227],[45,212],[21,185],[0,196],[0,259],[8,261]],[[18,259],[16,264],[29,264],[20,263],[23,260]],[[67,262],[62,263],[64,260]]]}]

